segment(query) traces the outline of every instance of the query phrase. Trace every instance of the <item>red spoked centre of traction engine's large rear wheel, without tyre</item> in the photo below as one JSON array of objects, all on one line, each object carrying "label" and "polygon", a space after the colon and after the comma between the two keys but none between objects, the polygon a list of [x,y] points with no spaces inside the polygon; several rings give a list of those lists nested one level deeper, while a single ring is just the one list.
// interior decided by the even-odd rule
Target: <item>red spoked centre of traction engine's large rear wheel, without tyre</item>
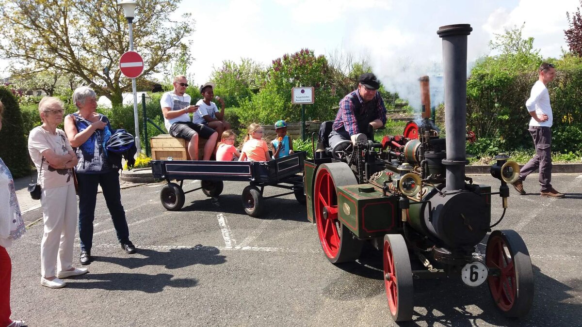
[{"label": "red spoked centre of traction engine's large rear wheel, without tyre", "polygon": [[314,202],[317,233],[325,255],[335,258],[338,255],[340,234],[338,233],[338,197],[331,174],[325,168],[315,180]]}]

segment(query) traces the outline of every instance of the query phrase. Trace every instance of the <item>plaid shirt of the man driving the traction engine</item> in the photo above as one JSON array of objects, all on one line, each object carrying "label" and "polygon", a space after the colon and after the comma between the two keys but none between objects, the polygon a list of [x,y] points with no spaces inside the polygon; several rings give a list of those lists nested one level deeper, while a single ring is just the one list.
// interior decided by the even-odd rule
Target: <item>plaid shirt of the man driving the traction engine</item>
[{"label": "plaid shirt of the man driving the traction engine", "polygon": [[[365,112],[367,109],[374,110],[374,119],[381,120],[382,125],[386,124],[386,107],[384,106],[384,100],[382,100],[380,93],[377,92],[370,102],[364,104],[364,100],[360,97],[360,92],[355,90],[343,97],[342,101],[339,101],[338,115],[336,115],[335,121],[333,122],[333,130],[339,130],[340,128],[344,127],[350,136],[360,133],[360,129],[358,128],[356,122],[356,116],[354,116],[353,111],[353,101],[356,99],[360,101],[361,111]],[[366,131],[363,131],[363,133],[365,132]]]}]

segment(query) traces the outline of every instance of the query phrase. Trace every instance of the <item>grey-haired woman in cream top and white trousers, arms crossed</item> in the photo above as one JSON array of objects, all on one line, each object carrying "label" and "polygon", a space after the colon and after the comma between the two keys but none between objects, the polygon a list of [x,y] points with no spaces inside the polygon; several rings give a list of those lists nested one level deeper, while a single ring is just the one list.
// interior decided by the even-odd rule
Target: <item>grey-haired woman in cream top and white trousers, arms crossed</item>
[{"label": "grey-haired woman in cream top and white trousers, arms crossed", "polygon": [[[73,168],[77,157],[66,138],[57,129],[63,121],[63,103],[59,98],[44,97],[38,104],[42,125],[29,134],[29,154],[38,170],[40,203],[44,234],[40,245],[41,285],[59,289],[62,278],[77,276],[87,269],[72,266],[77,197]],[[55,264],[58,266],[55,276]]]}]

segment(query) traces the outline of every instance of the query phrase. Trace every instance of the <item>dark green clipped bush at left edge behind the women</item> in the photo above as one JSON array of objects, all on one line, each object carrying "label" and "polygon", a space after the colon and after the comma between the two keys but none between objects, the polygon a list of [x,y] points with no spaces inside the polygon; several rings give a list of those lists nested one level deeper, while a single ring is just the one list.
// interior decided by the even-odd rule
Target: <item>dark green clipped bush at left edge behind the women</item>
[{"label": "dark green clipped bush at left edge behind the women", "polygon": [[4,105],[0,130],[2,140],[0,158],[6,163],[14,178],[29,175],[31,166],[20,106],[16,97],[5,87],[0,87],[0,101]]}]

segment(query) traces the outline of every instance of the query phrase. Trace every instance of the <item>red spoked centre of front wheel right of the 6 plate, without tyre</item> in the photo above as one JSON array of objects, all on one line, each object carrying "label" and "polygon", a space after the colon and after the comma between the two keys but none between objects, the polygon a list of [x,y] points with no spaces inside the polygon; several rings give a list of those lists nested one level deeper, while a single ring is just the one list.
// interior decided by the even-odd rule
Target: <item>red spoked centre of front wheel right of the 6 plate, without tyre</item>
[{"label": "red spoked centre of front wheel right of the 6 plate, without tyre", "polygon": [[489,240],[487,266],[499,269],[499,276],[489,276],[489,289],[495,303],[503,311],[509,311],[515,302],[517,287],[513,260],[508,256],[507,244],[501,237]]}]

